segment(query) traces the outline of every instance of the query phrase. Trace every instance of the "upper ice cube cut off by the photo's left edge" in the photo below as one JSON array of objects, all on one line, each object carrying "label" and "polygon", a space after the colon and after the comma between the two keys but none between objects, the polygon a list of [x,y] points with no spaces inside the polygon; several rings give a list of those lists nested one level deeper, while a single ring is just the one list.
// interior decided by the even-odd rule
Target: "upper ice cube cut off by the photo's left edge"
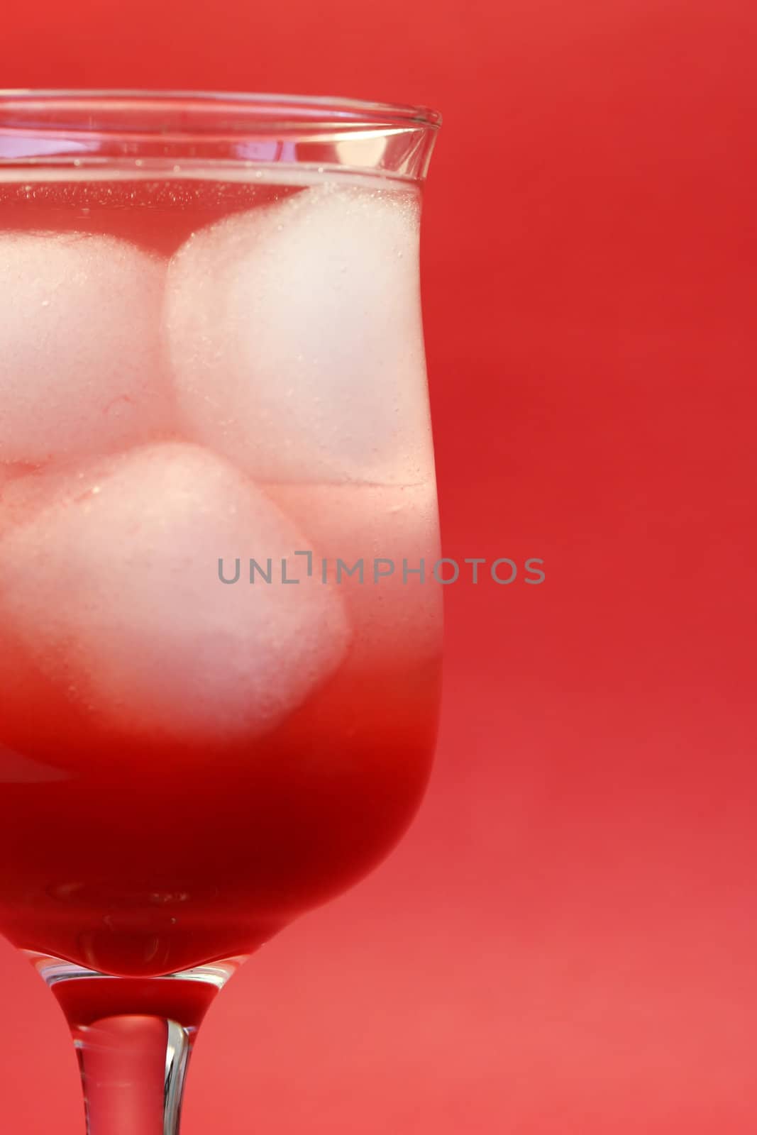
[{"label": "upper ice cube cut off by the photo's left edge", "polygon": [[126,241],[0,234],[0,461],[108,451],[161,430],[165,264]]}]

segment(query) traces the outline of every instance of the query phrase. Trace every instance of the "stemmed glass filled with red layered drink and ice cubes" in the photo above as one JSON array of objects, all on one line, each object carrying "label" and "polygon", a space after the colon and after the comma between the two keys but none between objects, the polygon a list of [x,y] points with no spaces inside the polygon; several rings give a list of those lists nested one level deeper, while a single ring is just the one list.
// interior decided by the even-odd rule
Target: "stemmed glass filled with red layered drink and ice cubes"
[{"label": "stemmed glass filled with red layered drink and ice cubes", "polygon": [[0,94],[0,933],[91,1135],[178,1130],[218,991],[422,796],[438,124]]}]

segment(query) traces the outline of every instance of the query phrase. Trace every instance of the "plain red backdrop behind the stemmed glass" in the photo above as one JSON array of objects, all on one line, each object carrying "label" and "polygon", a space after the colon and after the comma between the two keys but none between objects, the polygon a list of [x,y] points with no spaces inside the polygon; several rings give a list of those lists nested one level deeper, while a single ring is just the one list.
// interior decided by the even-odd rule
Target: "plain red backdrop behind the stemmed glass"
[{"label": "plain red backdrop behind the stemmed glass", "polygon": [[[422,101],[448,588],[436,776],[219,1000],[186,1135],[757,1128],[755,163],[743,0],[11,3],[8,86]],[[0,949],[0,1128],[83,1130]]]}]

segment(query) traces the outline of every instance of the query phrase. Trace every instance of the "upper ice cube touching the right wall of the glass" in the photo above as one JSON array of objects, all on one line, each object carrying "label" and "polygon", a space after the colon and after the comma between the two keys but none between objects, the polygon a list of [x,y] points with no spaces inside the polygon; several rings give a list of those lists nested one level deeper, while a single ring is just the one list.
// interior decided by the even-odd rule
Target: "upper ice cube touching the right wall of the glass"
[{"label": "upper ice cube touching the right wall of the glass", "polygon": [[261,480],[432,470],[410,195],[320,186],[196,233],[166,327],[190,436]]}]

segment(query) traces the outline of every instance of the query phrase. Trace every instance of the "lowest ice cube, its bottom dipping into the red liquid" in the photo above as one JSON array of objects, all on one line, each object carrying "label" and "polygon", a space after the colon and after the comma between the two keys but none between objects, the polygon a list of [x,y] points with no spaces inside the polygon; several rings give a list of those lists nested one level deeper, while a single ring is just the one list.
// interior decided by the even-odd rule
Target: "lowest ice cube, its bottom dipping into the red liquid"
[{"label": "lowest ice cube, its bottom dipping into the red liquid", "polygon": [[[24,480],[0,538],[0,625],[100,726],[255,737],[342,662],[337,589],[293,566],[305,538],[221,457],[162,443]],[[219,557],[227,579],[239,557],[238,582]],[[249,582],[250,557],[272,561],[270,583]],[[301,583],[281,583],[283,557]]]}]

